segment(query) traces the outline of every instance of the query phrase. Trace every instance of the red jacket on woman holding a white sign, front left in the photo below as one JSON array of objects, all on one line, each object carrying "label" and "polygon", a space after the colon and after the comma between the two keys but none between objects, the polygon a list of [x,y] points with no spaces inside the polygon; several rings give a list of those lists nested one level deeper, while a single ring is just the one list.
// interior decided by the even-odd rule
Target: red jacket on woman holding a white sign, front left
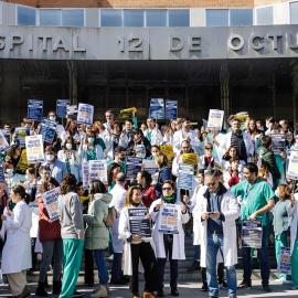
[{"label": "red jacket on woman holding a white sign, front left", "polygon": [[51,222],[49,213],[42,198],[39,195],[36,202],[40,209],[39,226],[40,226],[40,242],[60,240],[61,225],[58,221]]}]

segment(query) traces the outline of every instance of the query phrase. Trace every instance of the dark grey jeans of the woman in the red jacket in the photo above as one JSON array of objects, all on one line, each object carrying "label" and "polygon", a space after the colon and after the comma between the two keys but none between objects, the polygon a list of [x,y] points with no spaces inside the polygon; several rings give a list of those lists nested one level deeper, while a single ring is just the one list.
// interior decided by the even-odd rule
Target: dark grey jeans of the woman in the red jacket
[{"label": "dark grey jeans of the woman in the red jacket", "polygon": [[45,283],[46,273],[52,262],[53,254],[54,254],[53,281],[58,281],[63,260],[63,242],[62,240],[45,241],[42,243],[42,248],[43,248],[43,258],[40,268],[39,283]]}]

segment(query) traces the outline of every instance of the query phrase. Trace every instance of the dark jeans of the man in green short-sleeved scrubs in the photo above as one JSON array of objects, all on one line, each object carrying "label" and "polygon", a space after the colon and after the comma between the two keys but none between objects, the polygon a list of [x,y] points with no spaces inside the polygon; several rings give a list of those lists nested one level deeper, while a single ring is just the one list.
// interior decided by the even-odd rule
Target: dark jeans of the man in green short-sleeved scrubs
[{"label": "dark jeans of the man in green short-sleeved scrubs", "polygon": [[[242,235],[242,225],[240,225],[240,234]],[[270,265],[268,257],[268,249],[266,245],[266,226],[263,225],[262,247],[257,248],[260,260],[260,277],[262,284],[269,284]],[[242,247],[242,262],[243,262],[243,283],[252,284],[252,262],[251,262],[251,247]]]}]

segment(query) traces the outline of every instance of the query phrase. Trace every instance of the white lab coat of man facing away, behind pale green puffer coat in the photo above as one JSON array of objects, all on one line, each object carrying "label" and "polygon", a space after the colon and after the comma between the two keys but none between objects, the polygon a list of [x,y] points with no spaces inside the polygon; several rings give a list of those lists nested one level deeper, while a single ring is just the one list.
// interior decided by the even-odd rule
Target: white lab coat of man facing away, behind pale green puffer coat
[{"label": "white lab coat of man facing away, behind pale green puffer coat", "polygon": [[115,209],[117,210],[117,219],[115,221],[115,224],[113,227],[109,228],[113,241],[113,247],[115,253],[123,254],[124,241],[118,237],[119,236],[118,226],[121,210],[126,200],[127,190],[123,185],[116,184],[109,193],[113,195],[109,206],[115,206]]}]

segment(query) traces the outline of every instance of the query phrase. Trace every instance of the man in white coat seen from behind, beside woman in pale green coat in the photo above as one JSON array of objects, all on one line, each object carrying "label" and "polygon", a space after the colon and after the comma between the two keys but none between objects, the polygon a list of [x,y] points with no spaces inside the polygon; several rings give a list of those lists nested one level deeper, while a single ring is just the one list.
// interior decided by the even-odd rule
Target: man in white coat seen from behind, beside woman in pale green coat
[{"label": "man in white coat seen from behind, beside woman in pale green coat", "polygon": [[126,200],[127,190],[125,189],[126,184],[126,175],[125,173],[120,172],[116,177],[116,185],[110,191],[113,195],[113,200],[110,202],[110,206],[115,206],[117,210],[117,219],[113,227],[110,227],[110,235],[114,246],[114,259],[113,259],[113,267],[111,267],[111,277],[110,283],[114,285],[126,285],[126,280],[123,279],[124,274],[121,270],[121,262],[123,262],[123,253],[124,253],[124,241],[118,238],[119,232],[119,219],[120,213]]}]

